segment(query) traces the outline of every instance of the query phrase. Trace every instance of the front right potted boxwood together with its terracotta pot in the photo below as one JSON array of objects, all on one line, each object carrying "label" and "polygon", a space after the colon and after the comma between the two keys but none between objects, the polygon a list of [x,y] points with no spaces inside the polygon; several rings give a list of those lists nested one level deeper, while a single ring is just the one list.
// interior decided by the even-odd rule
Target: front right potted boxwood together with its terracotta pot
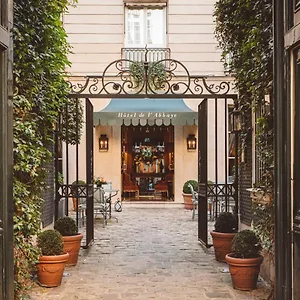
[{"label": "front right potted boxwood together with its terracotta pot", "polygon": [[241,291],[256,288],[263,256],[259,237],[252,230],[238,232],[232,240],[232,252],[225,259],[229,265],[232,285]]}]

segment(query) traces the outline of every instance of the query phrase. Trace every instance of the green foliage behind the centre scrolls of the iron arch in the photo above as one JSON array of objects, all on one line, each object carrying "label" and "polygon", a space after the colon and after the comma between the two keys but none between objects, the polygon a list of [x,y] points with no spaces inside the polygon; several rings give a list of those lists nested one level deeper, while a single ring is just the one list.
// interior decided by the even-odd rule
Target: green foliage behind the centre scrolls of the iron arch
[{"label": "green foliage behind the centre scrolls of the iron arch", "polygon": [[[145,81],[144,62],[134,62],[129,66],[135,87],[141,88]],[[148,83],[153,90],[163,88],[163,83],[166,80],[165,66],[161,62],[148,63]]]}]

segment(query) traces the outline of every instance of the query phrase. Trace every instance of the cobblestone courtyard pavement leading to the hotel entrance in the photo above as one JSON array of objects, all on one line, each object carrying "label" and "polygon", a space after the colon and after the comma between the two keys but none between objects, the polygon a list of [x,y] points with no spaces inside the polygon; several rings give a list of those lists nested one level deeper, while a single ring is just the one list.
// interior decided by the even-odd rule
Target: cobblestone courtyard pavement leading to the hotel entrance
[{"label": "cobblestone courtyard pavement leading to the hotel entrance", "polygon": [[260,281],[252,292],[234,290],[226,264],[197,241],[197,221],[184,209],[124,208],[103,228],[97,220],[95,242],[81,249],[77,266],[67,267],[62,285],[35,286],[31,299],[187,300],[267,299]]}]

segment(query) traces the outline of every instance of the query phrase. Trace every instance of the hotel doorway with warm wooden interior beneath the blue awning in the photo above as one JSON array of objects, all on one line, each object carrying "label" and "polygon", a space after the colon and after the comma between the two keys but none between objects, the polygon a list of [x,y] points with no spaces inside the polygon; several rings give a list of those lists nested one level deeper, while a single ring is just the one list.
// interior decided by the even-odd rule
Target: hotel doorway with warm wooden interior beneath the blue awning
[{"label": "hotel doorway with warm wooden interior beneath the blue awning", "polygon": [[121,127],[124,201],[174,201],[174,126]]}]

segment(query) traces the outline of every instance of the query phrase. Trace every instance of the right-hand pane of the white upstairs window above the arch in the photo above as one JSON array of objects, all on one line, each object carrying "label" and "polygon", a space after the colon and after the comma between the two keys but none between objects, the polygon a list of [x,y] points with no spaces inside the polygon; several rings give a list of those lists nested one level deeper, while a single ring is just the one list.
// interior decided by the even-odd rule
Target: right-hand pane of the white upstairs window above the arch
[{"label": "right-hand pane of the white upstairs window above the arch", "polygon": [[164,11],[162,9],[147,10],[147,44],[164,45]]}]

